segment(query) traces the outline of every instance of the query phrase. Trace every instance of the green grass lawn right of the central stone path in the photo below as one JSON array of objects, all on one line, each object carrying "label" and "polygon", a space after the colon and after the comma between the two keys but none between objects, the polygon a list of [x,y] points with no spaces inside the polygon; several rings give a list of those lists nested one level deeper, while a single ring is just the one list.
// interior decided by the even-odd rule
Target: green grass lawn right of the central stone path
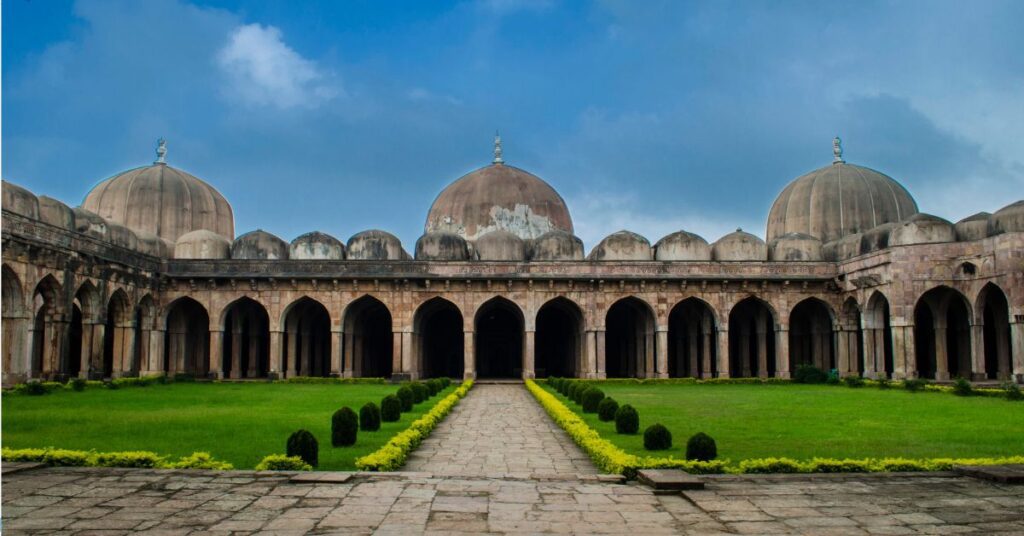
[{"label": "green grass lawn right of the central stone path", "polygon": [[[624,436],[542,385],[602,438],[638,455],[685,457],[686,440],[698,431],[715,438],[720,459],[733,461],[1024,454],[1024,403],[1004,399],[835,385],[601,382],[606,396],[640,414],[640,434]],[[672,450],[644,450],[643,430],[655,422],[672,431]]]}]

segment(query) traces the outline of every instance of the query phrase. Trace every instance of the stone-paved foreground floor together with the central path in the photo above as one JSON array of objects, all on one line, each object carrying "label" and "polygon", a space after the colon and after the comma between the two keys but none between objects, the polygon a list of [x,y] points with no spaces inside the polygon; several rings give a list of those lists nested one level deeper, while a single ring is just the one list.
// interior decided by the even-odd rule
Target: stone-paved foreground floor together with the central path
[{"label": "stone-paved foreground floor together with the central path", "polygon": [[954,473],[720,476],[682,495],[602,482],[521,385],[474,387],[416,471],[16,468],[4,535],[1024,534],[1024,486]]}]

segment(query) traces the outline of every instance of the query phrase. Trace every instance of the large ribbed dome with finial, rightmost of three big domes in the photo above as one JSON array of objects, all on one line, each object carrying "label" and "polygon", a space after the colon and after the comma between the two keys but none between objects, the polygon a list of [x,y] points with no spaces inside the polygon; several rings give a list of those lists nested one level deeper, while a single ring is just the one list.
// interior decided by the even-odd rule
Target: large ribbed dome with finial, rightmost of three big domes
[{"label": "large ribbed dome with finial, rightmost of three big domes", "polygon": [[782,190],[768,215],[768,241],[790,233],[830,242],[918,212],[899,182],[866,167],[836,162],[811,171]]}]

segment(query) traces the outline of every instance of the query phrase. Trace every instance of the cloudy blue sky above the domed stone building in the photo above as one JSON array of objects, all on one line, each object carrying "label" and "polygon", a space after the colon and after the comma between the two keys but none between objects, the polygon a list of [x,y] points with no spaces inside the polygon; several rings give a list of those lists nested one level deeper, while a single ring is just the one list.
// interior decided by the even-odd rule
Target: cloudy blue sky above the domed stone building
[{"label": "cloudy blue sky above the domed stone building", "polygon": [[412,249],[445,184],[505,158],[592,247],[764,235],[846,159],[953,221],[1024,198],[1024,2],[7,0],[3,177],[78,205],[154,159],[236,231]]}]

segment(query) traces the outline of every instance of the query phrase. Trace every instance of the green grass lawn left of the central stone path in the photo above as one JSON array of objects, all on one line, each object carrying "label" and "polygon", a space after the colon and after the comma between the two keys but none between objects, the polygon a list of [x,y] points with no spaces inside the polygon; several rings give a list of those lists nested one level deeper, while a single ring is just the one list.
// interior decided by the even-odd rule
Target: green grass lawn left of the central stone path
[{"label": "green grass lawn left of the central stone path", "polygon": [[284,453],[288,436],[306,428],[319,442],[323,470],[355,467],[427,412],[455,386],[385,422],[359,431],[352,447],[331,447],[331,415],[342,406],[397,390],[392,384],[174,383],[117,390],[58,389],[43,397],[3,396],[3,446],[97,451],[147,450],[175,457],[207,451],[236,468],[252,468],[267,454]]}]

